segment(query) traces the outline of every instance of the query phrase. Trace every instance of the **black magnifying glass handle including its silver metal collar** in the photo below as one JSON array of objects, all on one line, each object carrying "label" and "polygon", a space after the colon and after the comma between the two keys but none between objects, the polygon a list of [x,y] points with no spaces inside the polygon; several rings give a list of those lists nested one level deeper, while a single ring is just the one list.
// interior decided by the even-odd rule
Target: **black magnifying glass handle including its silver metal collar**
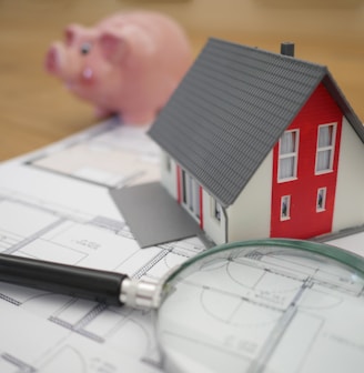
[{"label": "black magnifying glass handle including its silver metal collar", "polygon": [[0,281],[110,305],[151,308],[155,284],[127,274],[0,254]]}]

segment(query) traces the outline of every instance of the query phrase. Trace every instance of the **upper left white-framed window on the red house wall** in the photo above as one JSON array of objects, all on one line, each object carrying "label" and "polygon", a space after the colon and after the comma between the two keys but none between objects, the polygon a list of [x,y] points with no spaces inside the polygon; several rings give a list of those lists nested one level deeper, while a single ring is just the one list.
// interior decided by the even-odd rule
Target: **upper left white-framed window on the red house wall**
[{"label": "upper left white-framed window on the red house wall", "polygon": [[286,131],[280,140],[279,181],[289,181],[297,175],[299,131]]}]

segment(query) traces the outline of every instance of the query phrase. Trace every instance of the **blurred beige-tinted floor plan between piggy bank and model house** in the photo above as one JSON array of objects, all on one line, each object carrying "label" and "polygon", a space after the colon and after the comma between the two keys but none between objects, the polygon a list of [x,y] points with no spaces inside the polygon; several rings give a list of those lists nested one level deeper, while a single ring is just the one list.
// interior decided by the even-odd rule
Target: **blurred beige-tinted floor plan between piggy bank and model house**
[{"label": "blurred beige-tinted floor plan between piggy bank and model house", "polygon": [[92,133],[28,163],[105,186],[158,180],[159,148],[148,139],[145,129],[122,127],[117,120],[105,124],[103,133]]}]

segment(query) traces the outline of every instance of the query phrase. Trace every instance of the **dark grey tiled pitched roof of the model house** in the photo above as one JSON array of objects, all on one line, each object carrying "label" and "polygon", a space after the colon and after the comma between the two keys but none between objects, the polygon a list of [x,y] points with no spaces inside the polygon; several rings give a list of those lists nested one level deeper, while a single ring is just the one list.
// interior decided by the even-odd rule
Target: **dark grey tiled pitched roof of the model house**
[{"label": "dark grey tiled pitched roof of the model house", "polygon": [[324,65],[210,39],[149,131],[223,206],[323,82],[364,142],[364,127]]}]

